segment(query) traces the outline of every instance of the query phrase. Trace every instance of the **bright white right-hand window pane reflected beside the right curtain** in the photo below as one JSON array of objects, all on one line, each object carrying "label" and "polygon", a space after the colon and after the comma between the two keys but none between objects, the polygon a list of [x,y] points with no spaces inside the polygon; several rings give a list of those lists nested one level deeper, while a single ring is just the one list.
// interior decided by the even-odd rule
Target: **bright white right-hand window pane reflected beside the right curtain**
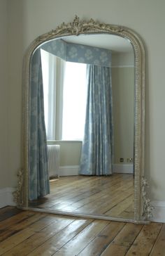
[{"label": "bright white right-hand window pane reflected beside the right curtain", "polygon": [[82,140],[87,96],[86,64],[66,62],[64,75],[63,140]]}]

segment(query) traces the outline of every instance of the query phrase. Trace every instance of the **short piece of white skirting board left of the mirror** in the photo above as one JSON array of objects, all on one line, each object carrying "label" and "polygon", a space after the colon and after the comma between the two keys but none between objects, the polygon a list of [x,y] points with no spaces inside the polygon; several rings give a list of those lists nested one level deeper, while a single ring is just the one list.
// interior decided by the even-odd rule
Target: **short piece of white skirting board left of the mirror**
[{"label": "short piece of white skirting board left of the mirror", "polygon": [[5,207],[7,205],[14,206],[13,202],[13,192],[15,188],[2,188],[0,189],[0,208]]}]

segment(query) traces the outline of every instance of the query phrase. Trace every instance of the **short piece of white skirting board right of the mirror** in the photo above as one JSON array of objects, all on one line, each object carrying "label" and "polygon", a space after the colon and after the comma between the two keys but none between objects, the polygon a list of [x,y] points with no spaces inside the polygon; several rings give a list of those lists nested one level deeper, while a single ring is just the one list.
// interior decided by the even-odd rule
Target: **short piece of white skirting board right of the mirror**
[{"label": "short piece of white skirting board right of the mirror", "polygon": [[151,201],[150,203],[154,210],[152,210],[152,222],[165,223],[165,201]]}]

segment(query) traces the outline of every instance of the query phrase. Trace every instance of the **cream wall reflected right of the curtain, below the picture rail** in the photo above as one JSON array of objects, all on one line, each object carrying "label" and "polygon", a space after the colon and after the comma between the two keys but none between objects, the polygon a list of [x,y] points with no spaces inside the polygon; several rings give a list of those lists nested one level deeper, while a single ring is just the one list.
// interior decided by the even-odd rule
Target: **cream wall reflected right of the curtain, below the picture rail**
[{"label": "cream wall reflected right of the curtain, below the picture rail", "polygon": [[114,164],[134,157],[134,68],[112,68]]}]

